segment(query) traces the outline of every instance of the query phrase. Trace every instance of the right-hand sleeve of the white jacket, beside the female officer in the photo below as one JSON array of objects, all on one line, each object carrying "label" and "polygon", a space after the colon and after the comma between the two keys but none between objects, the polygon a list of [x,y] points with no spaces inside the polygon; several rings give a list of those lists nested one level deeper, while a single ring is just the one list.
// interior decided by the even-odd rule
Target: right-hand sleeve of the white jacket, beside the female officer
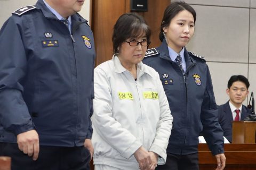
[{"label": "right-hand sleeve of the white jacket, beside the female officer", "polygon": [[160,81],[158,73],[156,73],[156,80],[158,87],[158,100],[160,106],[160,117],[156,129],[156,136],[149,151],[153,151],[159,155],[158,164],[162,165],[166,162],[166,148],[168,146],[169,138],[172,130],[173,117],[171,115],[169,103],[164,92],[162,82]]}]

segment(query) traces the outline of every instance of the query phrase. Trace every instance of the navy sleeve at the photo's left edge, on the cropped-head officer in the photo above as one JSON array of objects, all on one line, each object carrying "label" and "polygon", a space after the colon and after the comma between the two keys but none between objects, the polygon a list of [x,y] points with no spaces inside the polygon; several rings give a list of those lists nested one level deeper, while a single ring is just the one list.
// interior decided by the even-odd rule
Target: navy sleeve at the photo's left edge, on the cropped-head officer
[{"label": "navy sleeve at the photo's left edge, on the cropped-head officer", "polygon": [[27,58],[20,24],[12,16],[0,30],[0,122],[15,135],[34,129],[22,97]]}]

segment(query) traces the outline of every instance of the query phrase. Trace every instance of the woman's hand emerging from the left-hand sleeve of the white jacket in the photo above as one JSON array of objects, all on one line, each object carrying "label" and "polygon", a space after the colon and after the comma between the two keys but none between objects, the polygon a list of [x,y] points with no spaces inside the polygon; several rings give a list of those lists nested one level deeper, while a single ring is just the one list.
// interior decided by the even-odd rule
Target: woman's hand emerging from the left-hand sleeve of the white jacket
[{"label": "woman's hand emerging from the left-hand sleeve of the white jacket", "polygon": [[149,152],[143,148],[140,147],[137,151],[134,152],[134,157],[139,163],[141,170],[146,170],[150,168],[150,164],[152,163]]}]

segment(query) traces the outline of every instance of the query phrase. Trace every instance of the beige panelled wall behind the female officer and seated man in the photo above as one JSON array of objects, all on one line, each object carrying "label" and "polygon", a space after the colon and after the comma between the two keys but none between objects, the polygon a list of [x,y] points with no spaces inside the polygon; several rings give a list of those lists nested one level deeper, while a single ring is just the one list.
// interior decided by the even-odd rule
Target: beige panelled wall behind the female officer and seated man
[{"label": "beige panelled wall behind the female officer and seated man", "polygon": [[227,82],[234,74],[249,79],[250,99],[251,91],[256,93],[256,0],[185,2],[197,12],[195,35],[187,48],[206,58],[217,104],[229,99]]}]

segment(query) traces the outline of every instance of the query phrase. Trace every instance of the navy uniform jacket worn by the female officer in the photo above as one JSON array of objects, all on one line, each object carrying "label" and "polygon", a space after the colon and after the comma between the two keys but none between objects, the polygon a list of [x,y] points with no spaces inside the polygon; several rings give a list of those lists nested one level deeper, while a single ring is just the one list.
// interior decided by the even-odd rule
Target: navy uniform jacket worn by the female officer
[{"label": "navy uniform jacket worn by the female officer", "polygon": [[171,60],[165,40],[160,47],[148,49],[143,60],[159,73],[173,116],[167,152],[182,155],[197,152],[198,136],[203,130],[212,154],[221,154],[223,131],[218,123],[209,68],[203,57],[187,52],[186,48],[184,55],[185,77]]}]

